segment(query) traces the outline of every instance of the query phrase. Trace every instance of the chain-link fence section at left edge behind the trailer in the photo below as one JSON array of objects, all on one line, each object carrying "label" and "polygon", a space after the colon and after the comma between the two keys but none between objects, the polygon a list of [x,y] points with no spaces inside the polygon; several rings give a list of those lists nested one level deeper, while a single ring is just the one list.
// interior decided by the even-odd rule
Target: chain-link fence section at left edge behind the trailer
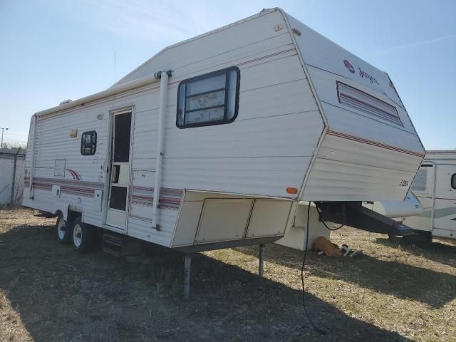
[{"label": "chain-link fence section at left edge behind the trailer", "polygon": [[25,159],[25,150],[0,150],[0,205],[21,204]]}]

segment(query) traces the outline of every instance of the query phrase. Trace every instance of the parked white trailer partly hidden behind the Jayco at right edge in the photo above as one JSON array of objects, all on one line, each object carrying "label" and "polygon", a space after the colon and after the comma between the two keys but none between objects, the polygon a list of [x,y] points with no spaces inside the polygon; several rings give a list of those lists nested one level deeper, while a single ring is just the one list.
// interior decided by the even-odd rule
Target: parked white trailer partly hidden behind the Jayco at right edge
[{"label": "parked white trailer partly hidden behind the Jayco at right edge", "polygon": [[412,184],[423,205],[417,215],[403,215],[403,222],[429,238],[456,239],[456,150],[427,150]]}]

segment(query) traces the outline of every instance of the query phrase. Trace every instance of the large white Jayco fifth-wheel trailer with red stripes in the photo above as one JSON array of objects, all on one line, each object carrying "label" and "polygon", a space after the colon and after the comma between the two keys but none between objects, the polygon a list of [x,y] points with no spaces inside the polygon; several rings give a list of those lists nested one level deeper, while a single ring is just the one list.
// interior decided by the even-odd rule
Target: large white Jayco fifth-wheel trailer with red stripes
[{"label": "large white Jayco fifth-wheel trailer with red stripes", "polygon": [[402,200],[424,155],[387,73],[267,9],[33,115],[24,206],[76,250],[93,227],[184,252],[264,244],[299,201],[353,222],[361,201]]}]

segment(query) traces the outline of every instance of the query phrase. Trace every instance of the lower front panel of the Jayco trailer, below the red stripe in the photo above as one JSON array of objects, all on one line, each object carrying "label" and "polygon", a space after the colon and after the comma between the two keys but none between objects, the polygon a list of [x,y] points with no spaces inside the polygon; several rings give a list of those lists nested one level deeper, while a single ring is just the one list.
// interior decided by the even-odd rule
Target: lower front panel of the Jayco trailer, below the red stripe
[{"label": "lower front panel of the Jayco trailer, below the red stripe", "polygon": [[[304,200],[403,200],[421,157],[326,135]],[[402,183],[405,180],[407,183]]]}]

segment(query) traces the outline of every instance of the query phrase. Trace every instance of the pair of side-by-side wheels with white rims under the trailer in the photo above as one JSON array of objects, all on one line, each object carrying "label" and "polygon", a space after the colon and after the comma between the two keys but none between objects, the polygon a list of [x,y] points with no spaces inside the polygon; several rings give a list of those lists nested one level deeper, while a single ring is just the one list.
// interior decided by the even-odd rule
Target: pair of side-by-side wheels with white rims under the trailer
[{"label": "pair of side-by-side wheels with white rims under the trailer", "polygon": [[61,244],[70,244],[76,252],[88,252],[93,247],[93,228],[84,224],[81,217],[76,217],[71,222],[63,219],[59,213],[56,222],[57,241]]}]

